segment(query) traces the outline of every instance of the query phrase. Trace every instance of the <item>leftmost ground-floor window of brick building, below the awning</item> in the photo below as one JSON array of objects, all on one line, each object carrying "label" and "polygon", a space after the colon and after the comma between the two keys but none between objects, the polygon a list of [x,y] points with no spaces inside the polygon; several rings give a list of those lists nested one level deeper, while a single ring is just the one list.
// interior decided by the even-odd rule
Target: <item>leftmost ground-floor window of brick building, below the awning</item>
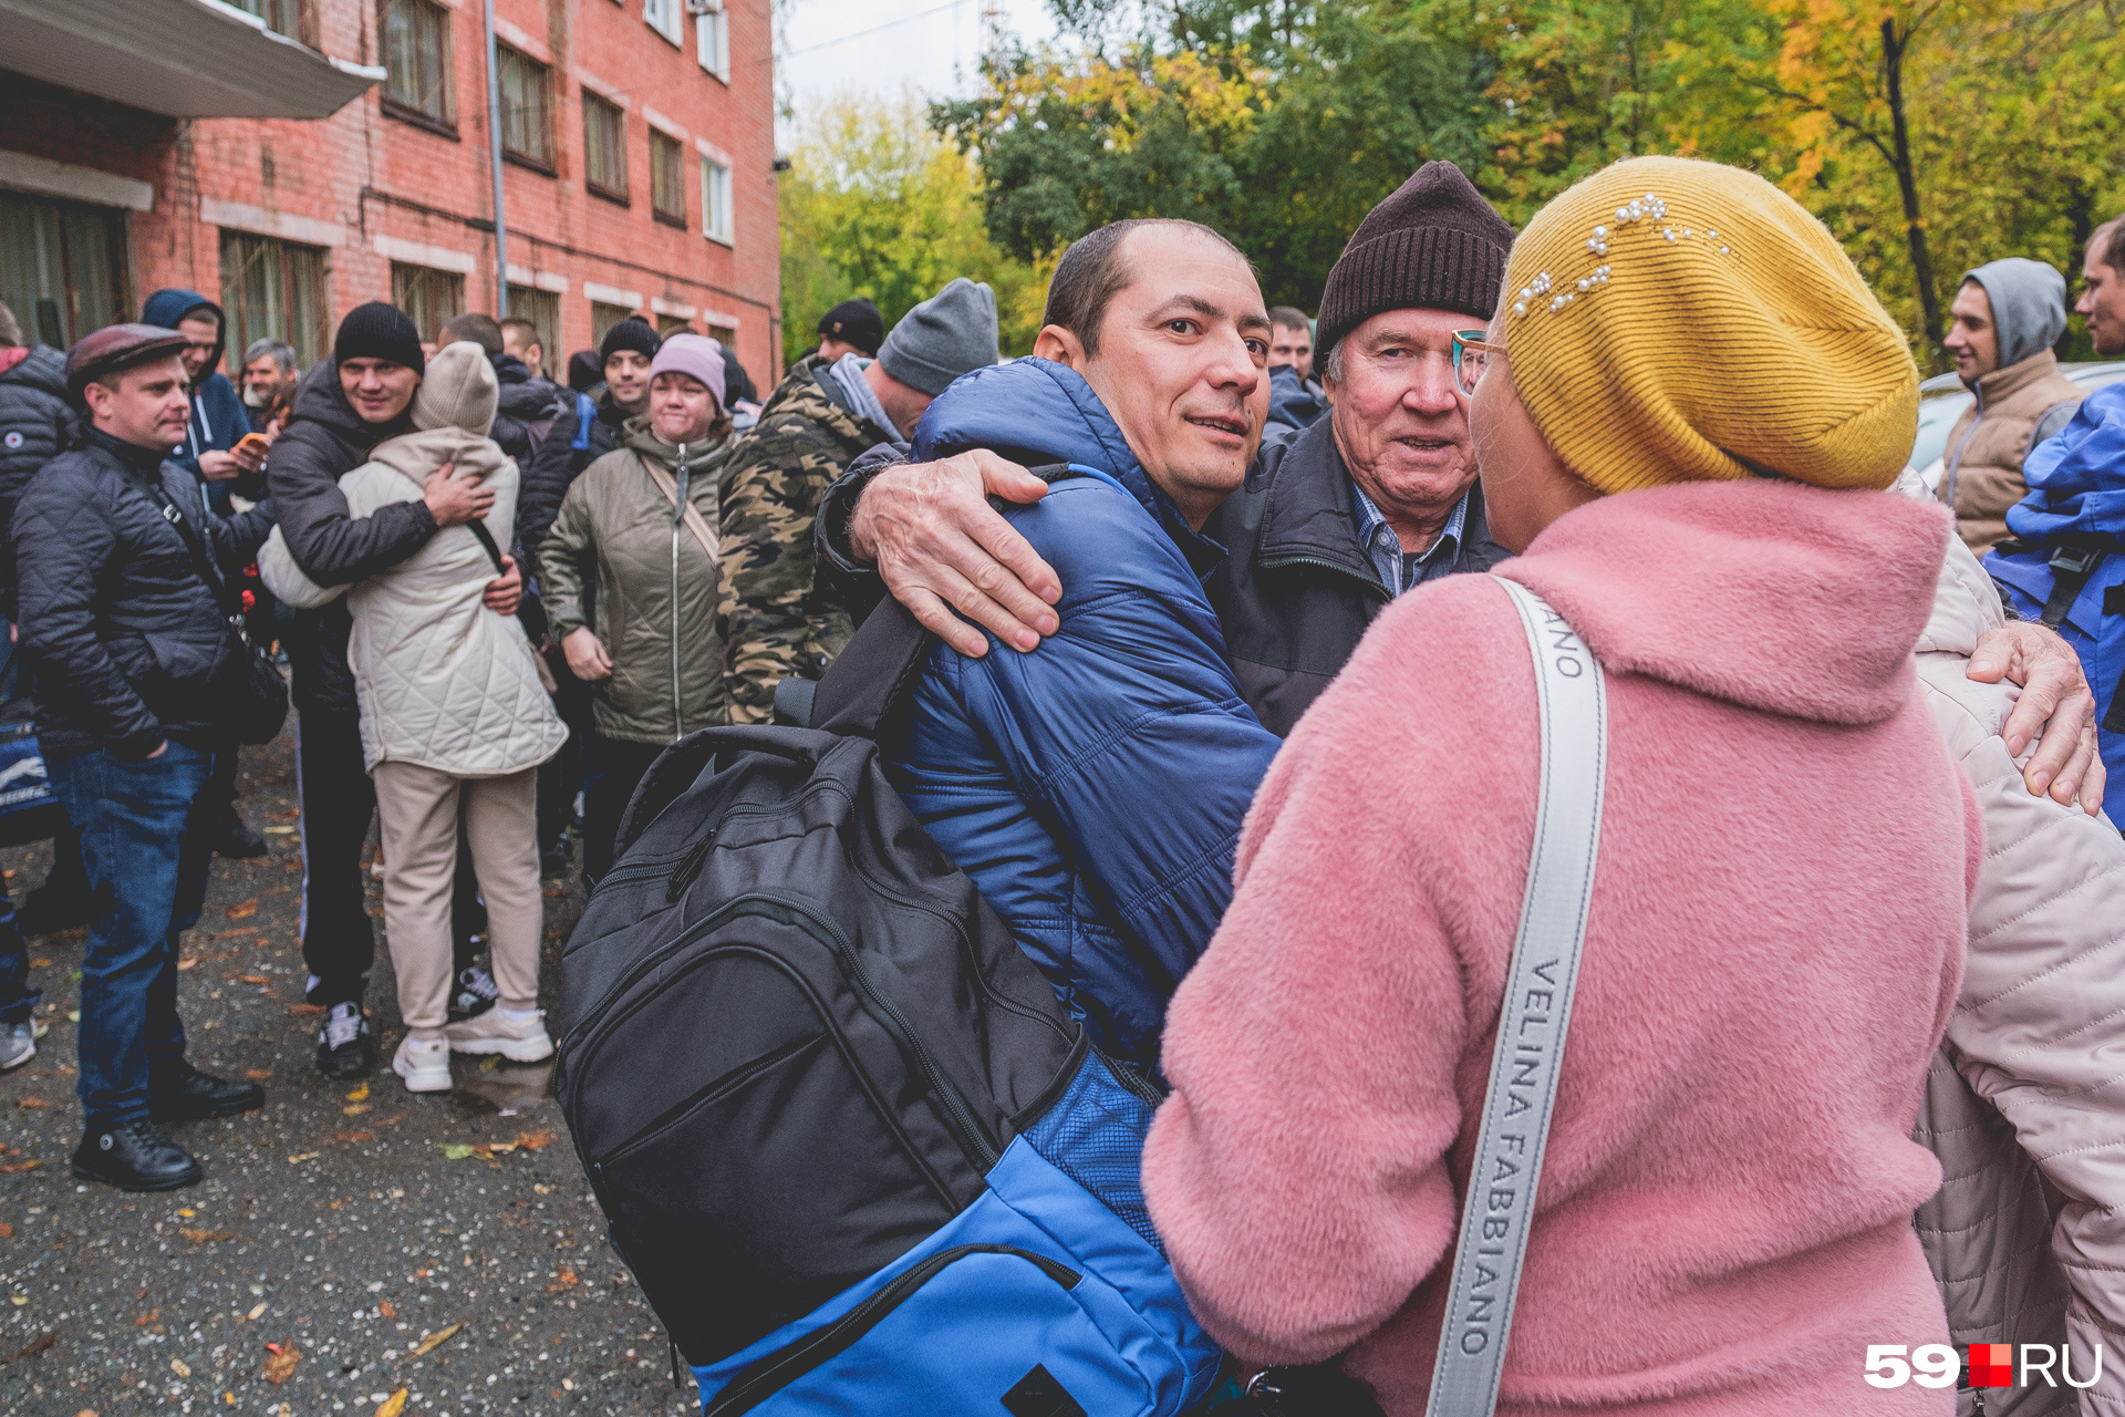
[{"label": "leftmost ground-floor window of brick building, below the awning", "polygon": [[130,317],[125,217],[0,191],[0,300],[21,338],[66,348]]}]

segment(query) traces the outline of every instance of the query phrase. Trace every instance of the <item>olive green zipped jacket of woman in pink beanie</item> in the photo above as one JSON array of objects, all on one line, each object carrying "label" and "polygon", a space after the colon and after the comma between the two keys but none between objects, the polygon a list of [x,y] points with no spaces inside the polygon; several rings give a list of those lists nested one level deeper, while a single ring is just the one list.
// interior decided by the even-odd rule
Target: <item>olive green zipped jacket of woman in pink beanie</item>
[{"label": "olive green zipped jacket of woman in pink beanie", "polygon": [[[729,444],[686,448],[686,499],[716,535],[716,478]],[[555,642],[589,625],[612,659],[591,684],[597,731],[633,744],[672,744],[727,720],[716,559],[672,514],[646,459],[678,476],[678,448],[646,419],[629,419],[620,446],[582,470],[540,544],[540,584]],[[595,622],[584,578],[595,567]],[[676,616],[674,616],[676,605]]]}]

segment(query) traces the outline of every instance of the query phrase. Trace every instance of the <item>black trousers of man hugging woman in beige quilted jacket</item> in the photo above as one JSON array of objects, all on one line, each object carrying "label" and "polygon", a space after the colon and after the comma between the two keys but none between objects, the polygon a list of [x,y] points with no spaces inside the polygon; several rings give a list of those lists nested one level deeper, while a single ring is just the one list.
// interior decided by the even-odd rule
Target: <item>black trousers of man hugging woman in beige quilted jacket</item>
[{"label": "black trousers of man hugging woman in beige quilted jacket", "polygon": [[[646,771],[646,769],[644,769]],[[361,843],[376,816],[376,784],[361,758],[361,714],[308,707],[295,716],[295,795],[302,805],[302,962],[317,975],[310,1003],[361,1003],[376,962]],[[457,848],[457,969],[478,958],[472,935],[487,931],[463,833]]]}]

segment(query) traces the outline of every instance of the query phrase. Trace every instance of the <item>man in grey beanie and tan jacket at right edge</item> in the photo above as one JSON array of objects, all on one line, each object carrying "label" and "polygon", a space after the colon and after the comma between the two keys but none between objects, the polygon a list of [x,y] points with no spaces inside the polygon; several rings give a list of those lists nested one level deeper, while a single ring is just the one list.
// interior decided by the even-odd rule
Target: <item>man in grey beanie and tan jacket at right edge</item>
[{"label": "man in grey beanie and tan jacket at right edge", "polygon": [[2066,329],[2066,276],[2019,255],[1964,272],[1940,344],[1974,402],[1949,431],[1940,499],[1976,554],[2006,540],[2006,510],[2029,495],[2021,463],[2066,427],[2082,389],[2051,353]]}]

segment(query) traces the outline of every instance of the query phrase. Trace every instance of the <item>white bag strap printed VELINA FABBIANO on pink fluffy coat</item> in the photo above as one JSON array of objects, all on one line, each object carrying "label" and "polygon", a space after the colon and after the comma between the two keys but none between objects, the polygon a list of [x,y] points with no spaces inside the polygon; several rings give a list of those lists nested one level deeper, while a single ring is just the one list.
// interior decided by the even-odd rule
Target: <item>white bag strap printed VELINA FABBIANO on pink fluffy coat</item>
[{"label": "white bag strap printed VELINA FABBIANO on pink fluffy coat", "polygon": [[1488,1417],[1498,1406],[1579,984],[1609,756],[1600,665],[1543,597],[1504,578],[1498,584],[1513,597],[1534,652],[1543,784],[1426,1417]]}]

